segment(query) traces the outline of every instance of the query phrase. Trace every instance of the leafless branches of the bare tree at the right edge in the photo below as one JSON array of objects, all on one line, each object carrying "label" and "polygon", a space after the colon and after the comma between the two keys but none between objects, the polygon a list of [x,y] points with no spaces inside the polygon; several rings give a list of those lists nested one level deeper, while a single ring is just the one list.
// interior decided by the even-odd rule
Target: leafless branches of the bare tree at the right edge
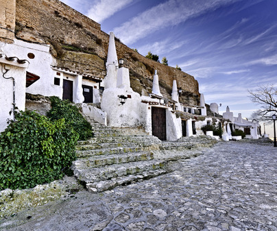
[{"label": "leafless branches of the bare tree at the right edge", "polygon": [[256,90],[248,90],[252,102],[261,105],[261,109],[253,112],[252,118],[258,121],[272,121],[272,114],[277,114],[277,88],[274,85],[258,86]]}]

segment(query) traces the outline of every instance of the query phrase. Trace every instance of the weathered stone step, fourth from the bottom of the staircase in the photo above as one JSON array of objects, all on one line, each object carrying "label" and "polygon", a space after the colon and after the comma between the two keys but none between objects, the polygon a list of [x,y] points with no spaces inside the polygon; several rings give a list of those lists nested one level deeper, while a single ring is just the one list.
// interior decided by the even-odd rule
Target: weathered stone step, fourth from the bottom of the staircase
[{"label": "weathered stone step, fourth from the bottom of the staircase", "polygon": [[100,149],[89,149],[89,150],[77,150],[77,158],[84,158],[88,156],[99,156],[104,154],[124,154],[128,152],[137,152],[137,151],[149,151],[159,149],[159,146],[151,145],[142,147],[139,145],[132,145],[128,147],[104,147]]}]

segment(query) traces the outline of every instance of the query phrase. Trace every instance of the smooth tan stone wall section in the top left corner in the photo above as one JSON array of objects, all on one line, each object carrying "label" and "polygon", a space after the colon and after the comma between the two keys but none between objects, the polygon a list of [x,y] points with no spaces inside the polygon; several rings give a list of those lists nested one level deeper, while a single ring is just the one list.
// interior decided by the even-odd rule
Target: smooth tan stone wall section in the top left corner
[{"label": "smooth tan stone wall section in the top left corner", "polygon": [[0,0],[0,41],[12,43],[15,26],[15,0]]}]

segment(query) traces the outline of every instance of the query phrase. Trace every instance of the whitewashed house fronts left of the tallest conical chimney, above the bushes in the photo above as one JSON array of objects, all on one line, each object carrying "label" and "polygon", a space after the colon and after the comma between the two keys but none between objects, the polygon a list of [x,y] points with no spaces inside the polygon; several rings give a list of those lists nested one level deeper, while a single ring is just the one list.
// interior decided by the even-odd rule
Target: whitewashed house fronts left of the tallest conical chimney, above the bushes
[{"label": "whitewashed house fronts left of the tallest conical chimney, above the bushes", "polygon": [[[101,79],[91,80],[91,76],[57,67],[56,60],[52,58],[49,51],[49,45],[39,45],[17,39],[14,39],[13,44],[0,42],[0,132],[7,127],[7,119],[13,118],[13,115],[9,114],[13,108],[13,81],[12,78],[7,80],[4,77],[14,78],[15,106],[19,110],[25,110],[25,93],[57,96],[62,99],[64,80],[73,82],[73,102],[82,103],[84,101],[82,85],[86,85],[92,89],[93,101],[91,102],[99,103]],[[11,57],[15,57],[14,60],[7,59]],[[24,63],[19,63],[22,60],[25,60]],[[5,73],[7,70],[8,72]],[[27,73],[38,76],[38,80],[26,87]]]}]

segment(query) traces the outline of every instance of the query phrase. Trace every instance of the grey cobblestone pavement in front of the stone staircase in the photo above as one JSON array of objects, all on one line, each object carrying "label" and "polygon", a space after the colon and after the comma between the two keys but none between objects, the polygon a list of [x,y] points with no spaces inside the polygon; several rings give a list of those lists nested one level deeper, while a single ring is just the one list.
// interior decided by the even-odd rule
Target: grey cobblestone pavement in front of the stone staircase
[{"label": "grey cobblestone pavement in front of the stone staircase", "polygon": [[277,148],[221,142],[175,171],[0,221],[10,230],[277,230]]}]

